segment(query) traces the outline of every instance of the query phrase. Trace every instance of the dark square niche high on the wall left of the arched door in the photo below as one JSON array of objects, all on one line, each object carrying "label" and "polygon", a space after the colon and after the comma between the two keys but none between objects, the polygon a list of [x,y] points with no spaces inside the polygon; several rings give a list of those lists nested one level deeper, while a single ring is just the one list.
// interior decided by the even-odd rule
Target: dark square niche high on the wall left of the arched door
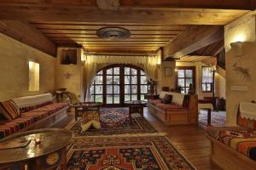
[{"label": "dark square niche high on the wall left of the arched door", "polygon": [[77,65],[77,50],[62,49],[61,50],[61,65]]}]

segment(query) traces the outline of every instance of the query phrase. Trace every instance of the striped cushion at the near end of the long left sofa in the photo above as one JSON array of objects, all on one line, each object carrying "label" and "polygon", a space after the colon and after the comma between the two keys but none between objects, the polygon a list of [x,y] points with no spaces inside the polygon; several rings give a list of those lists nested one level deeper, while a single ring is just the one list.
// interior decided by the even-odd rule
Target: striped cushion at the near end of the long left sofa
[{"label": "striped cushion at the near end of the long left sofa", "polygon": [[13,100],[0,102],[0,112],[9,121],[20,116],[19,108]]}]

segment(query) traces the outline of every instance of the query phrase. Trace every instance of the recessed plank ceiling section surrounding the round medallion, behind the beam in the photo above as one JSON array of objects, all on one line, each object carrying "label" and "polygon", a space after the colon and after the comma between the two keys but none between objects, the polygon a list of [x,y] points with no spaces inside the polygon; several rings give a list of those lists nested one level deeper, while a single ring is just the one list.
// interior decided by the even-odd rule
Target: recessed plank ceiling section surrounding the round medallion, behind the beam
[{"label": "recessed plank ceiling section surrounding the round medallion, behind the beam", "polygon": [[[155,26],[155,25],[124,25],[124,24],[84,24],[70,22],[32,22],[58,46],[72,46],[74,43],[83,45],[88,51],[140,51],[155,52],[164,47],[172,38],[185,31],[189,26]],[[121,41],[102,39],[96,31],[106,26],[121,26],[131,31],[131,37]]]}]

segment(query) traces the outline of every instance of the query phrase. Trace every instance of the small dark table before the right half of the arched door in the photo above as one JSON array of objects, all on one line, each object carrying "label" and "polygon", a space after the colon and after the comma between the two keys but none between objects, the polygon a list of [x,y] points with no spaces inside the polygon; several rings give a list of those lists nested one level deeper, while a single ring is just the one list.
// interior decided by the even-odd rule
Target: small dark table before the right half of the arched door
[{"label": "small dark table before the right half of the arched door", "polygon": [[143,116],[143,108],[146,106],[148,102],[143,100],[131,100],[125,101],[125,105],[129,107],[129,115],[131,116],[132,113],[139,113]]}]

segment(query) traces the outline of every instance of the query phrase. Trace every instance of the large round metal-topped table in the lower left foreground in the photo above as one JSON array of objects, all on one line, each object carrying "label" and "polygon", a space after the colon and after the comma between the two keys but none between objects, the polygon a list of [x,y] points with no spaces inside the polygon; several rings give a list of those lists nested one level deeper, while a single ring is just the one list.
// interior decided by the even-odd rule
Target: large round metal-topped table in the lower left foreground
[{"label": "large round metal-topped table in the lower left foreground", "polygon": [[1,139],[0,169],[67,169],[66,146],[71,137],[66,129],[42,128]]}]

